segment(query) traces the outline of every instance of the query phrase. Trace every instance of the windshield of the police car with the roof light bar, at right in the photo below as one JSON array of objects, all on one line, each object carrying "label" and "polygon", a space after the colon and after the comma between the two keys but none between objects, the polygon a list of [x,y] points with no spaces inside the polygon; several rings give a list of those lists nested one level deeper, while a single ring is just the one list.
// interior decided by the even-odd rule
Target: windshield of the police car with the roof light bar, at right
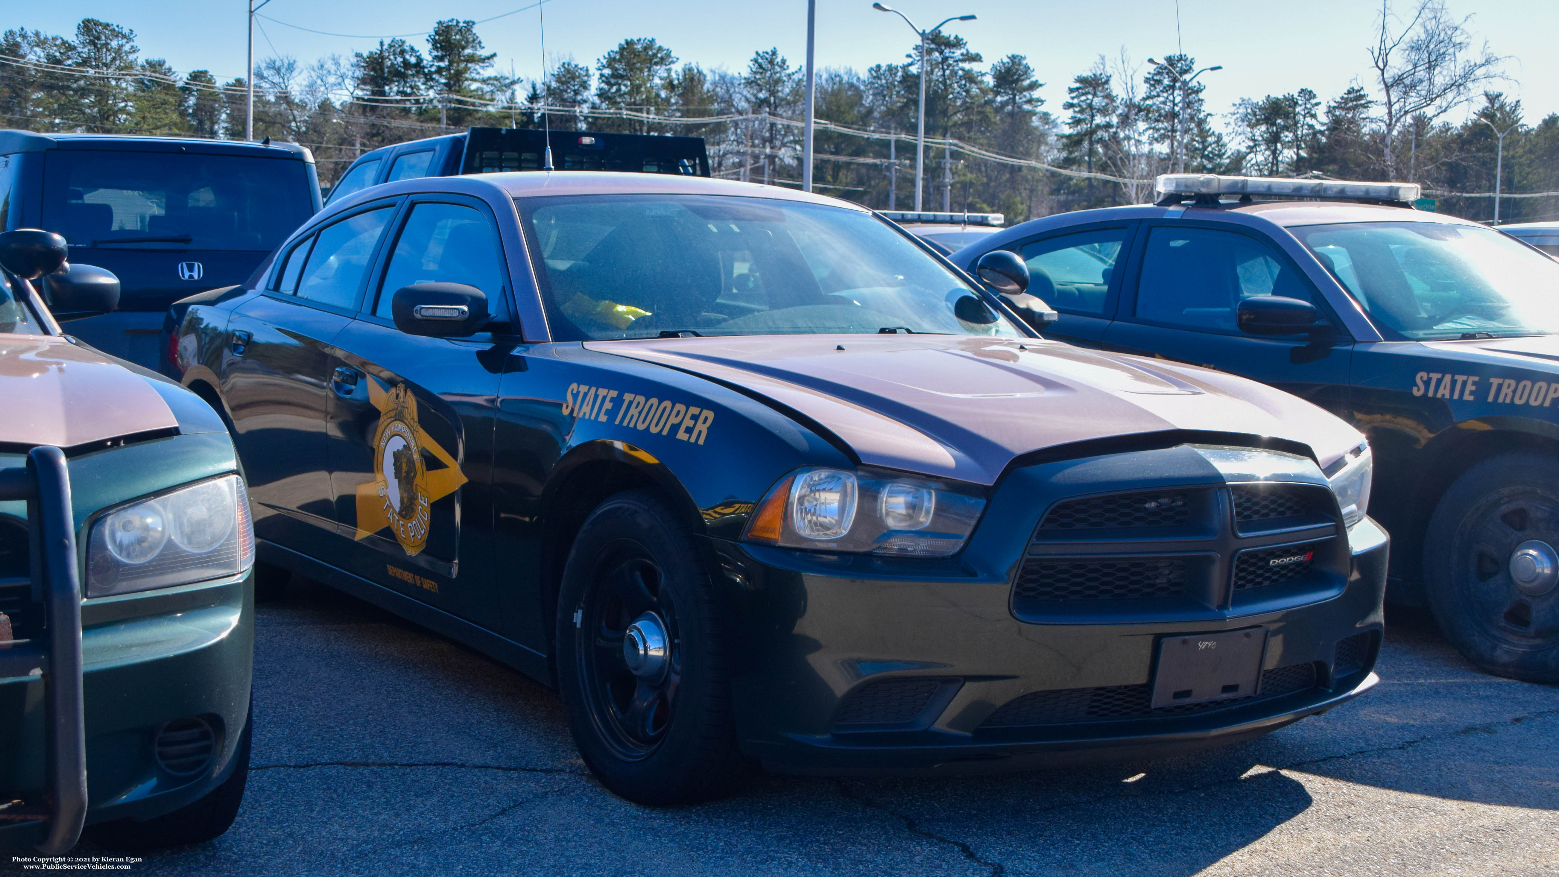
[{"label": "windshield of the police car with the roof light bar, at right", "polygon": [[1388,338],[1559,332],[1559,262],[1494,229],[1347,223],[1289,231]]}]

